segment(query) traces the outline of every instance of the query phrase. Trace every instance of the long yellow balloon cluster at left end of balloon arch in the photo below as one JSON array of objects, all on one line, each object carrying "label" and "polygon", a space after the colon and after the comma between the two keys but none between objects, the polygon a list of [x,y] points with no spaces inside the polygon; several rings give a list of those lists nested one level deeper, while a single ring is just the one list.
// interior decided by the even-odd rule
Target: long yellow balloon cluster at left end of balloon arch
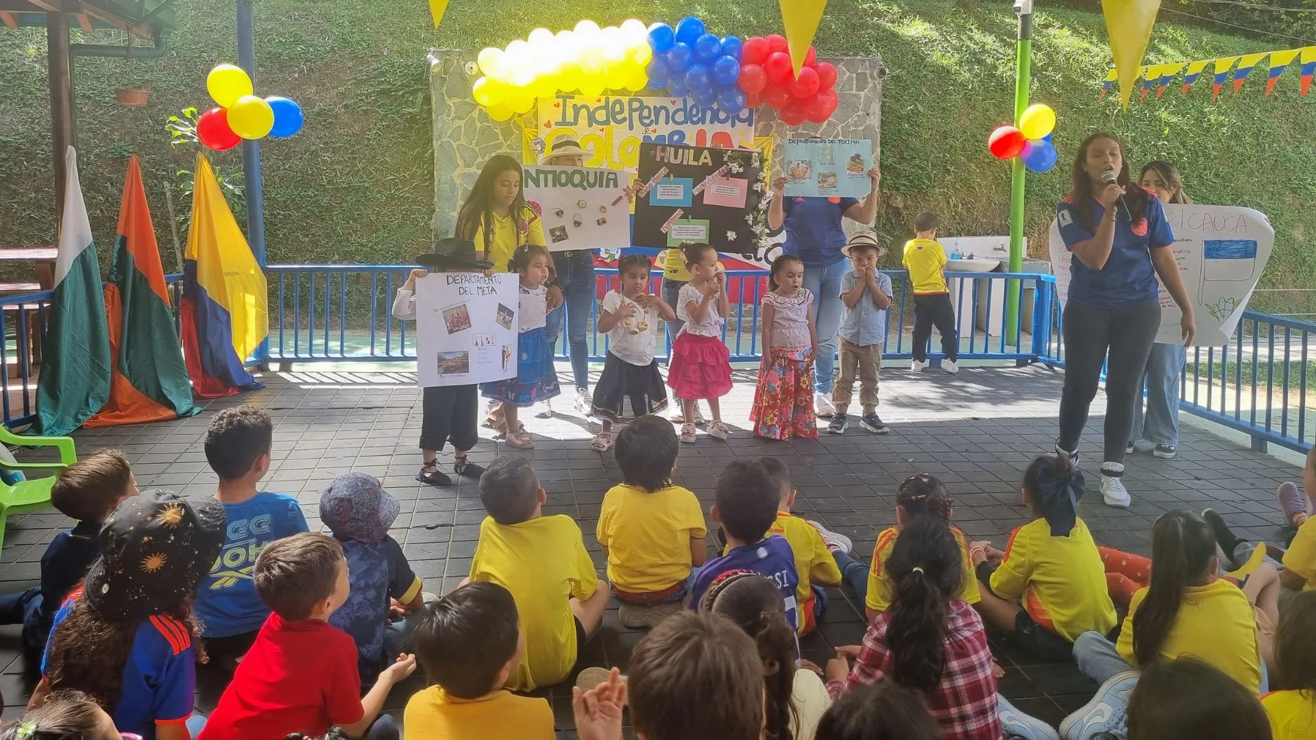
[{"label": "long yellow balloon cluster at left end of balloon arch", "polygon": [[483,49],[476,63],[484,76],[471,95],[496,121],[528,113],[537,97],[579,91],[586,97],[604,90],[644,90],[645,66],[653,58],[645,24],[634,18],[621,26],[599,28],[580,21],[572,30],[537,28],[505,49]]}]

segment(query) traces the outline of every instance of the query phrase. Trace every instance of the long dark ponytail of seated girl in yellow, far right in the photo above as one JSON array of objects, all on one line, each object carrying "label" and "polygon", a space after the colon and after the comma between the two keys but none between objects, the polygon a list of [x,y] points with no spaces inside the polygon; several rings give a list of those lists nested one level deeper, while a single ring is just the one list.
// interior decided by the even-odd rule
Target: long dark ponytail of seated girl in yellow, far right
[{"label": "long dark ponytail of seated girl in yellow, far right", "polygon": [[1179,616],[1183,590],[1198,585],[1215,554],[1211,525],[1196,514],[1170,511],[1152,525],[1152,582],[1133,619],[1133,657],[1138,665],[1157,660]]}]

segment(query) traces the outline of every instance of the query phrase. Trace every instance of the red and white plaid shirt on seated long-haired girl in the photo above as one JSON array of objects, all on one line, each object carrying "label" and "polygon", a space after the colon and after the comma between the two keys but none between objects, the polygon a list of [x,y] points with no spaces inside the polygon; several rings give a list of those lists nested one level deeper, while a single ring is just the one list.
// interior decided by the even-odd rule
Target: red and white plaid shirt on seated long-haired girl
[{"label": "red and white plaid shirt on seated long-haired girl", "polygon": [[[845,689],[859,683],[876,683],[895,668],[887,645],[890,612],[883,612],[863,635],[863,648],[850,670],[846,683],[832,681],[828,691],[834,699]],[[923,698],[941,726],[942,740],[1003,740],[996,710],[996,678],[991,673],[991,650],[983,620],[962,600],[950,602],[946,635],[946,668],[937,690]]]}]

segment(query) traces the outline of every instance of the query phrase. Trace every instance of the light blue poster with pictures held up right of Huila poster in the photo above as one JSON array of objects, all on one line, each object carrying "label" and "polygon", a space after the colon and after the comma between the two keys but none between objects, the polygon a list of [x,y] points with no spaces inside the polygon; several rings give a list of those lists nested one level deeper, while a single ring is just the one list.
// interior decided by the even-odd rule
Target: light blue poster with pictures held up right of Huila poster
[{"label": "light blue poster with pictures held up right of Huila poster", "polygon": [[873,142],[859,138],[786,141],[786,195],[863,198],[873,190]]}]

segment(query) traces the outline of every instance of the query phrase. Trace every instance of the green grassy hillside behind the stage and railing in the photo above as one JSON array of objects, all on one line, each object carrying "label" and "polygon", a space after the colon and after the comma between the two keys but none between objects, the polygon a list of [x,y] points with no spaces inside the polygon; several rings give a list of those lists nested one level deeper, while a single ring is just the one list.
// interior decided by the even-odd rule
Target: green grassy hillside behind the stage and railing
[{"label": "green grassy hillside behind the stage and railing", "polygon": [[[453,0],[433,29],[424,0],[262,0],[257,4],[259,82],[307,111],[296,138],[265,147],[270,258],[276,262],[405,259],[430,240],[432,178],[425,53],[430,47],[501,46],[536,26],[665,18],[692,12],[720,33],[779,30],[775,0],[619,0],[553,4]],[[147,194],[163,225],[162,188],[191,169],[195,151],[170,149],[168,115],[208,103],[205,71],[232,61],[232,0],[179,0],[180,26],[161,61],[78,59],[78,124],[83,188],[101,244],[113,232],[122,169],[142,157]],[[1173,16],[1166,16],[1171,17]],[[992,1],[966,11],[954,0],[832,0],[816,43],[824,55],[880,55],[891,68],[883,104],[883,230],[908,232],[916,211],[933,209],[953,234],[1004,233],[1008,171],[986,153],[987,132],[1009,119],[1015,18]],[[105,38],[97,38],[105,42]],[[1298,43],[1298,42],[1292,42]],[[1217,36],[1157,25],[1148,61],[1187,61],[1282,47],[1282,40]],[[1316,287],[1316,96],[1298,96],[1290,70],[1270,97],[1257,70],[1240,95],[1212,101],[1209,80],[1187,97],[1173,87],[1159,101],[1121,112],[1098,99],[1109,63],[1099,14],[1040,9],[1033,45],[1037,101],[1059,115],[1062,165],[1029,178],[1028,233],[1034,254],[1067,161],[1101,128],[1132,144],[1136,163],[1177,162],[1198,201],[1266,212],[1278,238],[1265,287]],[[54,236],[43,32],[0,29],[0,245],[49,244]],[[151,103],[114,104],[113,88],[141,86]],[[213,158],[237,174],[237,151]],[[186,208],[186,201],[179,203]],[[161,230],[167,240],[167,230]],[[167,244],[167,241],[164,242]],[[168,251],[166,249],[164,251]],[[171,259],[166,257],[168,265]],[[1275,295],[1284,295],[1280,302]],[[1271,296],[1267,299],[1267,296]],[[1296,299],[1294,296],[1298,296]],[[1265,307],[1316,313],[1316,292],[1262,294]],[[1305,302],[1305,303],[1304,303]]]}]

